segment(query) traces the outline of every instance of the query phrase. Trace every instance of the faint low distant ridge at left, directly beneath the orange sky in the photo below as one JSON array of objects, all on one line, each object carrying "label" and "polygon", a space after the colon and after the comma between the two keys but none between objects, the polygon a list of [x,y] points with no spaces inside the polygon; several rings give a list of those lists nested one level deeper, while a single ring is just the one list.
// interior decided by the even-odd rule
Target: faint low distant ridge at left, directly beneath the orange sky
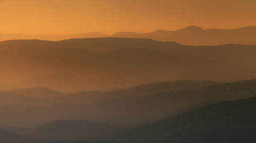
[{"label": "faint low distant ridge at left, directly beneath the orange sky", "polygon": [[1,34],[0,33],[0,41],[16,40],[16,39],[38,39],[38,40],[59,41],[59,40],[74,39],[74,38],[98,38],[98,37],[109,37],[109,36],[103,33],[38,34],[38,35]]}]

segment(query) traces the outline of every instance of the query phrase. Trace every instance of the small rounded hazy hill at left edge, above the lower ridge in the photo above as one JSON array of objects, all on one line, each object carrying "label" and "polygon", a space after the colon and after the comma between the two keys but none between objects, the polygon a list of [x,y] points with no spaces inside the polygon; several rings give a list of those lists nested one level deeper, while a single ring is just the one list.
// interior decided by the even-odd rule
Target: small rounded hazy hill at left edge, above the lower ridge
[{"label": "small rounded hazy hill at left edge, above the lower ridge", "polygon": [[16,95],[24,95],[35,98],[56,98],[62,96],[60,92],[53,91],[46,88],[36,87],[31,89],[17,89],[9,91],[0,91],[1,93],[11,93]]}]

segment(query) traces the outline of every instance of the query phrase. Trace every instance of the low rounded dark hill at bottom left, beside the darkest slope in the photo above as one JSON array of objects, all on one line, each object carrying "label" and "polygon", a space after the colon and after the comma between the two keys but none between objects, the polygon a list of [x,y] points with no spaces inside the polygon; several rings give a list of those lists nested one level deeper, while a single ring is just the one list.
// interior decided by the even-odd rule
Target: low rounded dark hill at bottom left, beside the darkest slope
[{"label": "low rounded dark hill at bottom left, beside the darkest slope", "polygon": [[123,127],[82,120],[54,121],[31,129],[27,136],[50,141],[87,140],[96,135],[121,130]]}]

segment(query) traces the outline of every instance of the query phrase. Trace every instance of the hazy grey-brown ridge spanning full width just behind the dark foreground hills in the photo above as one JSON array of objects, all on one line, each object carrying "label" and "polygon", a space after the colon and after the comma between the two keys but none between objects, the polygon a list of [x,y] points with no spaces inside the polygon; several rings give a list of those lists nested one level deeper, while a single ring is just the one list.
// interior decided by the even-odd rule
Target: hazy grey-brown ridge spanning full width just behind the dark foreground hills
[{"label": "hazy grey-brown ridge spanning full width just behind the dark foreground hills", "polygon": [[[195,88],[195,85],[191,84],[190,88],[172,90],[172,87],[178,87],[182,82],[184,87],[187,83],[205,84],[206,87]],[[166,85],[163,82],[109,92],[63,94],[52,98],[1,93],[0,113],[3,116],[0,119],[0,127],[33,127],[54,120],[87,120],[133,126],[222,100],[253,97],[256,93],[255,80],[230,83],[176,81],[176,85],[174,83],[170,82],[169,91],[167,87],[159,88],[159,85]]]}]

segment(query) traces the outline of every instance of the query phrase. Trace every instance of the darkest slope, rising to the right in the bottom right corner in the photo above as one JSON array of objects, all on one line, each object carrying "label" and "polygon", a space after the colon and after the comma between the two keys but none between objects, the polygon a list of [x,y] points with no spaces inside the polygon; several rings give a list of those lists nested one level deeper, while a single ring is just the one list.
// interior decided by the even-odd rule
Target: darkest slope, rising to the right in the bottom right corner
[{"label": "darkest slope, rising to the right in the bottom right corner", "polygon": [[255,142],[256,98],[224,101],[97,137],[107,142]]}]

